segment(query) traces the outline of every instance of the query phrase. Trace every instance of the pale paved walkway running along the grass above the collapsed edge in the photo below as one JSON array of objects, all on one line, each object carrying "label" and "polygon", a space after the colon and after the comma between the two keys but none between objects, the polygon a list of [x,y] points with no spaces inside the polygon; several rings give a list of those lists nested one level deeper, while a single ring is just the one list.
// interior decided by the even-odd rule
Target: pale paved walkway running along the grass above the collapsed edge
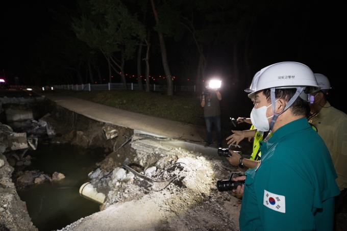
[{"label": "pale paved walkway running along the grass above the collapsed edge", "polygon": [[127,127],[153,136],[205,142],[202,138],[206,136],[205,129],[191,124],[129,112],[71,96],[58,94],[45,94],[45,96],[63,108],[97,121]]}]

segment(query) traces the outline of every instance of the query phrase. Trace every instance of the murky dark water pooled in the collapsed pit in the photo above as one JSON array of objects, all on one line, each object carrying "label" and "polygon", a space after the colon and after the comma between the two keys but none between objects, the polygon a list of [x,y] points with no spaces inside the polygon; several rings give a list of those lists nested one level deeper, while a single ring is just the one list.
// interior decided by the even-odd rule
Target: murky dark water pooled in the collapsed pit
[{"label": "murky dark water pooled in the collapsed pit", "polygon": [[18,190],[27,203],[29,215],[39,231],[56,230],[95,212],[100,204],[82,198],[79,189],[88,182],[88,173],[103,159],[102,149],[84,149],[70,144],[40,144],[31,151],[30,168],[44,173],[61,172],[59,182],[44,182]]}]

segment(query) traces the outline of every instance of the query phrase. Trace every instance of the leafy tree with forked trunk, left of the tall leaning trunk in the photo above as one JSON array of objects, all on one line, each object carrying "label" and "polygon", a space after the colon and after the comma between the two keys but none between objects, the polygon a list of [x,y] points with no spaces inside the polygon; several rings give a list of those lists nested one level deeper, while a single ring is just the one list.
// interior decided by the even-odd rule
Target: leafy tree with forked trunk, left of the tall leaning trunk
[{"label": "leafy tree with forked trunk, left of the tall leaning trunk", "polygon": [[109,64],[109,70],[112,68],[121,76],[127,89],[124,63],[133,58],[136,44],[144,38],[143,25],[120,0],[91,0],[90,4],[81,2],[80,6],[85,14],[73,18],[73,30],[80,40],[100,50]]}]

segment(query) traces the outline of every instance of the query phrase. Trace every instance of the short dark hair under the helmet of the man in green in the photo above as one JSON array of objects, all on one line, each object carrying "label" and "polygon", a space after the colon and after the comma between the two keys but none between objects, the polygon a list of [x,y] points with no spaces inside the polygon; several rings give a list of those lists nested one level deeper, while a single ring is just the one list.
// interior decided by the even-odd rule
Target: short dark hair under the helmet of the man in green
[{"label": "short dark hair under the helmet of the man in green", "polygon": [[[289,101],[296,92],[296,88],[279,88],[275,90],[276,99],[284,99]],[[270,89],[265,89],[263,94],[266,96],[267,102],[271,102]],[[300,96],[295,99],[293,104],[289,107],[291,113],[295,116],[308,116],[310,114],[310,106],[308,102],[302,99]]]}]

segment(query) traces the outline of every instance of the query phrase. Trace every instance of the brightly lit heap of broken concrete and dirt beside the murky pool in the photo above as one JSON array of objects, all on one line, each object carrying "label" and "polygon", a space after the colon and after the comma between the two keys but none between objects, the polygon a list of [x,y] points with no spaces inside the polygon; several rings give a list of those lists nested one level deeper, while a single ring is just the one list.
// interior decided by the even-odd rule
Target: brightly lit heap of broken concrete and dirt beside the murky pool
[{"label": "brightly lit heap of broken concrete and dirt beside the murky pool", "polygon": [[[238,230],[241,201],[215,187],[217,179],[227,179],[229,171],[236,170],[226,160],[141,136],[133,137],[130,145],[135,155],[123,160],[128,158],[127,166],[141,177],[123,166],[109,172],[97,168],[89,178],[107,195],[100,212],[104,215],[93,214],[61,230]],[[135,217],[146,211],[136,218],[141,226],[134,224],[129,208]],[[115,216],[115,224],[103,216]]]}]

